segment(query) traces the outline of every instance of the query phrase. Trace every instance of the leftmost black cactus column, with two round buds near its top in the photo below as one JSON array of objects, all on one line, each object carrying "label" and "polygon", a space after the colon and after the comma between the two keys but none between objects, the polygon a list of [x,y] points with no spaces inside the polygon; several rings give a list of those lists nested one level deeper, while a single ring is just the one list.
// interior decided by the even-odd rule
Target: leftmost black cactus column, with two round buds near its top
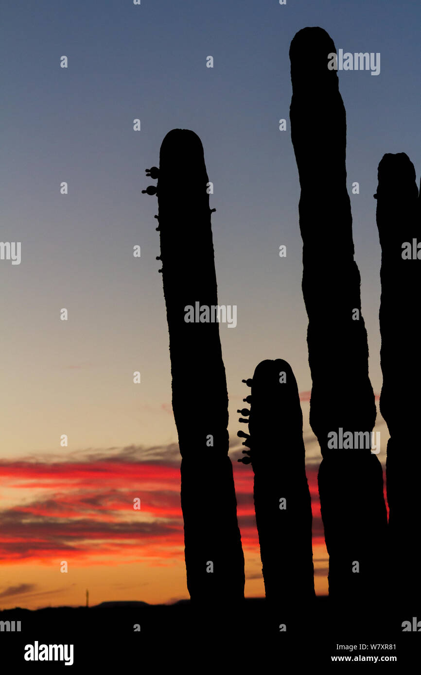
[{"label": "leftmost black cactus column, with two round buds near its top", "polygon": [[[174,129],[162,142],[157,193],[162,278],[170,333],[172,408],[181,461],[187,587],[192,601],[244,597],[244,558],[228,458],[228,394],[218,304],[208,178],[199,137]],[[201,314],[193,323],[188,306]],[[210,318],[210,316],[209,316]]]}]

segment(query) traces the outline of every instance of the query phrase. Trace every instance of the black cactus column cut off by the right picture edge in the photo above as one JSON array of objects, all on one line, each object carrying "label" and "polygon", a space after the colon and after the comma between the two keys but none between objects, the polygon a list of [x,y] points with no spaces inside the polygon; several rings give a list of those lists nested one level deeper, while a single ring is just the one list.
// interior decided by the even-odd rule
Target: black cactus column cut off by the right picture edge
[{"label": "black cactus column cut off by the right picture edge", "polygon": [[[380,412],[391,438],[387,445],[389,565],[395,595],[421,599],[420,468],[416,423],[420,414],[421,281],[420,196],[414,165],[405,153],[385,155],[378,165],[377,226],[382,248],[380,280]],[[421,249],[421,246],[420,246]],[[418,259],[418,255],[420,259]]]}]

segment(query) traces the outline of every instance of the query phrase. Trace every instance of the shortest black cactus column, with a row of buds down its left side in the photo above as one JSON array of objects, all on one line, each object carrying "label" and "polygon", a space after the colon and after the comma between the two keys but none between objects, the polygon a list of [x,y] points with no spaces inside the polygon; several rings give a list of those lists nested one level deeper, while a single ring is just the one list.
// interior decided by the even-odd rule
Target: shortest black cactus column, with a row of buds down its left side
[{"label": "shortest black cactus column, with a row of buds down its left side", "polygon": [[[305,475],[303,414],[291,366],[280,358],[257,365],[243,458],[254,472],[254,504],[266,597],[278,609],[314,597],[312,504]],[[245,418],[240,418],[240,421]],[[276,423],[277,433],[274,434]]]}]

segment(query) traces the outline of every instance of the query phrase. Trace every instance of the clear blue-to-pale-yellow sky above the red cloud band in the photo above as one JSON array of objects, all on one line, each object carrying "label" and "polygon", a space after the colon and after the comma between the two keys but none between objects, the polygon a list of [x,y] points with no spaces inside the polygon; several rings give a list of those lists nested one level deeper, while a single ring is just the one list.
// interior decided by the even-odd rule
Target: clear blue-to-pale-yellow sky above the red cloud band
[{"label": "clear blue-to-pale-yellow sky above the red cloud band", "polygon": [[[151,182],[145,167],[158,163],[172,128],[203,142],[219,302],[238,307],[237,328],[220,327],[231,439],[248,393],[241,379],[260,360],[288,360],[299,390],[311,389],[289,130],[289,45],[305,26],[325,28],[337,49],[381,55],[376,77],[339,73],[349,191],[360,183],[351,205],[370,376],[380,391],[373,194],[384,153],[407,153],[419,180],[420,25],[418,0],[3,0],[0,239],[22,242],[22,263],[0,261],[1,458],[176,442],[157,205],[141,194]],[[137,117],[141,132],[132,130]],[[314,180],[329,189],[328,175]],[[322,261],[322,251],[314,255]],[[62,307],[68,322],[59,320]],[[63,433],[68,449],[59,446]]]}]

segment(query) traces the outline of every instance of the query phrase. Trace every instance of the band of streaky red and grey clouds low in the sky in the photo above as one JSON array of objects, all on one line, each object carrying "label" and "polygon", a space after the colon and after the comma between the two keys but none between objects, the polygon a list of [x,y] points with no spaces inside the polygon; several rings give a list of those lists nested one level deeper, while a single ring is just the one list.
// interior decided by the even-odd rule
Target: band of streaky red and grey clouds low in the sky
[{"label": "band of streaky red and grey clouds low in the sky", "polygon": [[[176,446],[91,452],[48,462],[3,460],[2,485],[16,490],[17,504],[0,512],[3,562],[57,560],[118,562],[182,558],[180,456]],[[148,458],[146,461],[143,458]],[[153,459],[151,459],[153,458]],[[238,517],[245,550],[258,555],[253,471],[233,462]],[[314,541],[323,541],[317,466],[307,467],[314,514]],[[29,499],[28,499],[29,497]],[[141,499],[141,510],[133,499]]]}]

